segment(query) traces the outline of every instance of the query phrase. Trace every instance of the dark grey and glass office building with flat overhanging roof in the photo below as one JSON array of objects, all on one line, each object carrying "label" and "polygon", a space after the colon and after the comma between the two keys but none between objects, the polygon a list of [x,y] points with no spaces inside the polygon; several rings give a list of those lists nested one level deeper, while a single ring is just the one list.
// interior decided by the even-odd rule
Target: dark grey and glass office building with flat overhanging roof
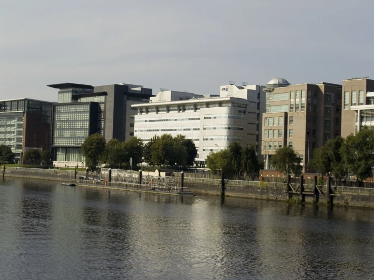
[{"label": "dark grey and glass office building with flat overhanging roof", "polygon": [[94,133],[109,141],[134,135],[132,104],[149,102],[152,89],[134,84],[92,86],[76,83],[48,85],[59,89],[53,104],[52,153],[56,166],[84,165],[80,146]]}]

